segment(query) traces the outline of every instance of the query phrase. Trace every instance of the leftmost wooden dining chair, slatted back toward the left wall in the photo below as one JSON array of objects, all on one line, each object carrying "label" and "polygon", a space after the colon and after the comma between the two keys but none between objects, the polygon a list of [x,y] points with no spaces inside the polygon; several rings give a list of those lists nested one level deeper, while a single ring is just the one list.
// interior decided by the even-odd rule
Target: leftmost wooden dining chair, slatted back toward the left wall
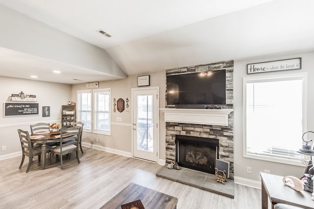
[{"label": "leftmost wooden dining chair, slatted back toward the left wall", "polygon": [[29,171],[29,168],[30,168],[30,165],[33,161],[34,156],[38,156],[38,161],[40,162],[41,149],[36,148],[36,147],[32,147],[28,131],[23,131],[21,129],[18,129],[18,133],[19,133],[21,146],[22,146],[22,162],[20,164],[19,169],[22,168],[25,156],[28,156],[29,161],[28,161],[28,166],[26,169],[26,173],[27,173]]}]

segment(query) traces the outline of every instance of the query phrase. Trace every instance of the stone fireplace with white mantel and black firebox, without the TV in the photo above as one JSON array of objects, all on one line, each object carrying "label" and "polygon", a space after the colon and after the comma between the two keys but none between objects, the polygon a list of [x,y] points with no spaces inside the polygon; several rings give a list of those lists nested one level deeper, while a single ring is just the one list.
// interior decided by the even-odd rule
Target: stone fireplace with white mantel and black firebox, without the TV
[{"label": "stone fireplace with white mantel and black firebox, without the TV", "polygon": [[[234,179],[234,129],[233,129],[233,69],[234,62],[219,62],[208,65],[169,69],[167,75],[226,69],[226,105],[219,109],[161,109],[166,122],[166,163],[172,160],[194,170],[212,173],[216,158],[230,162],[230,179]],[[186,151],[178,150],[178,143],[185,144]],[[189,137],[201,138],[194,143]],[[180,142],[180,138],[183,138]],[[205,148],[204,144],[210,144]],[[190,152],[190,153],[188,153]],[[204,155],[203,155],[204,153]],[[205,154],[207,153],[207,154]],[[177,156],[179,154],[179,156]],[[206,156],[205,156],[206,155]],[[202,156],[202,157],[200,157]],[[205,156],[205,157],[204,157]],[[216,157],[216,158],[215,158]],[[198,158],[198,159],[197,159]],[[183,165],[182,161],[191,161]]]}]

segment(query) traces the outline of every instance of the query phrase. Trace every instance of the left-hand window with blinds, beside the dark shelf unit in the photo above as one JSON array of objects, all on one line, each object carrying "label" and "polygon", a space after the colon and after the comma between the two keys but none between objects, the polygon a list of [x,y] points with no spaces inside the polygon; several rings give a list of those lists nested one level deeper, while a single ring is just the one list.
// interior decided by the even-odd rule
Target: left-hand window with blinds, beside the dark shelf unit
[{"label": "left-hand window with blinds, beside the dark shelf unit", "polygon": [[91,132],[91,91],[84,90],[77,92],[78,121],[84,124],[84,131]]}]

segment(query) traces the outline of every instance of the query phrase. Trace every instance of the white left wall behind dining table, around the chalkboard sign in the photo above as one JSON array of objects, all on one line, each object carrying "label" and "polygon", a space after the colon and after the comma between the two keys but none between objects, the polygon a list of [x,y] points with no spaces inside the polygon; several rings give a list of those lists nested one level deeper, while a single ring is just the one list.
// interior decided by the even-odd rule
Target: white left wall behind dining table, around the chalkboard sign
[{"label": "white left wall behind dining table, around the chalkboard sign", "polygon": [[[27,80],[20,78],[0,77],[0,147],[6,146],[6,151],[0,151],[0,159],[16,152],[21,152],[18,129],[30,131],[30,124],[38,122],[55,122],[61,119],[61,105],[67,104],[71,98],[71,85]],[[9,102],[11,94],[36,95],[39,104],[39,115],[4,117],[3,105]],[[42,117],[42,106],[50,106],[50,117]]]}]

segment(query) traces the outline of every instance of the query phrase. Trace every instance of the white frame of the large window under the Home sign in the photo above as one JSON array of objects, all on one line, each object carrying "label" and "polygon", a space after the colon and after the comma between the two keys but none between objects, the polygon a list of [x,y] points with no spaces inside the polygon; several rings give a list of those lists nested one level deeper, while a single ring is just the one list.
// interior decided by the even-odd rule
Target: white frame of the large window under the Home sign
[{"label": "white frame of the large window under the Home sign", "polygon": [[[291,80],[291,79],[301,79],[303,82],[303,92],[302,92],[302,131],[307,130],[307,73],[297,73],[297,74],[278,74],[272,76],[256,76],[256,77],[246,77],[243,78],[243,157],[285,163],[290,165],[304,166],[300,160],[285,159],[273,156],[263,156],[259,154],[247,153],[247,143],[246,143],[246,84],[254,82],[266,82],[275,80]],[[300,148],[302,147],[302,133],[300,134]],[[296,148],[297,150],[298,148]]]}]

